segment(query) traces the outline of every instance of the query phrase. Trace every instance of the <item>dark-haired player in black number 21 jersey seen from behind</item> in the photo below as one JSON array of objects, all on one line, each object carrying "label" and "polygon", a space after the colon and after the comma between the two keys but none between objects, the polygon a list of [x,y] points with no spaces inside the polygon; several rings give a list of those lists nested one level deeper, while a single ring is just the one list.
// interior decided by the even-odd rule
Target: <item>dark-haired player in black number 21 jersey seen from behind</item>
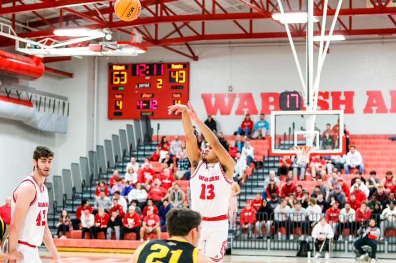
[{"label": "dark-haired player in black number 21 jersey seen from behind", "polygon": [[170,238],[148,240],[135,251],[130,263],[213,263],[197,248],[201,216],[187,208],[173,208],[166,215]]}]

